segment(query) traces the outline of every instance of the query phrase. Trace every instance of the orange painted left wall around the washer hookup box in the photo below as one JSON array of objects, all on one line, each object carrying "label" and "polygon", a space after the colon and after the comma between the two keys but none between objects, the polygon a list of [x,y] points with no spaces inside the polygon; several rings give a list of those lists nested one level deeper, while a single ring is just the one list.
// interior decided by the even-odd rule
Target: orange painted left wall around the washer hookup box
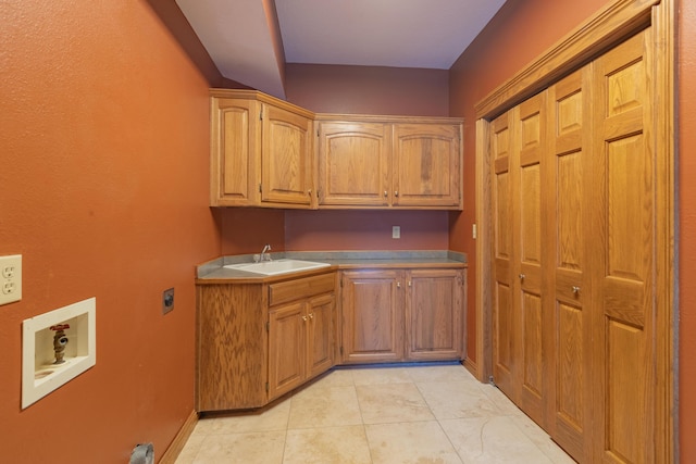
[{"label": "orange painted left wall around the washer hookup box", "polygon": [[[0,5],[0,461],[161,457],[194,411],[195,265],[208,208],[208,87],[145,0]],[[162,315],[162,291],[175,309]],[[97,364],[21,410],[22,321],[97,299]]]}]

